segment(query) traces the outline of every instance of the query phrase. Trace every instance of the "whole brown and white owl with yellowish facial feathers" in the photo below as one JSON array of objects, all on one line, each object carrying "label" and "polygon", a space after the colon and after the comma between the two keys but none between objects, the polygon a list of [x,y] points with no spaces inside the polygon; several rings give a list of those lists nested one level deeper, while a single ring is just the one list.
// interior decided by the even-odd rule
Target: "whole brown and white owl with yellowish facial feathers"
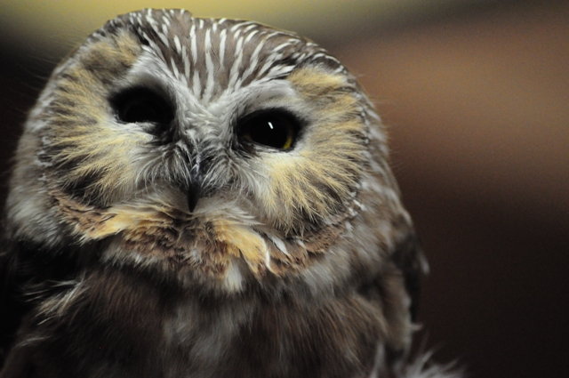
[{"label": "whole brown and white owl with yellowish facial feathers", "polygon": [[435,376],[408,362],[426,262],[385,128],[309,39],[119,16],[14,162],[2,378]]}]

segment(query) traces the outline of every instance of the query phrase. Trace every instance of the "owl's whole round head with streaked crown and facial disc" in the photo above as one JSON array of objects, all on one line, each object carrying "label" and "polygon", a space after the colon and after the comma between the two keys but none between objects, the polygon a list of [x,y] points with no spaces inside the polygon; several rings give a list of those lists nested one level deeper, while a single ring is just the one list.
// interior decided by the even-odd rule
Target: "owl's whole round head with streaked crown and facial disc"
[{"label": "owl's whole round head with streaked crown and facial disc", "polygon": [[184,285],[320,290],[375,274],[411,228],[386,158],[369,100],[316,44],[134,12],[56,68],[20,141],[8,217],[16,238]]}]

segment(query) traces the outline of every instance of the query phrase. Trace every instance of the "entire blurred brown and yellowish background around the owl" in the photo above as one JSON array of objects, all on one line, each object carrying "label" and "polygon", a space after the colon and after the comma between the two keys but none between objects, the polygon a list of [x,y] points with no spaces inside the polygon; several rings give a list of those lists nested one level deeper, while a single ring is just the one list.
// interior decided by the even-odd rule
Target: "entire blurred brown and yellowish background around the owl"
[{"label": "entire blurred brown and yellowish background around the owl", "polygon": [[569,377],[569,2],[0,0],[0,195],[55,64],[143,7],[324,45],[389,125],[431,273],[416,342],[472,377]]}]

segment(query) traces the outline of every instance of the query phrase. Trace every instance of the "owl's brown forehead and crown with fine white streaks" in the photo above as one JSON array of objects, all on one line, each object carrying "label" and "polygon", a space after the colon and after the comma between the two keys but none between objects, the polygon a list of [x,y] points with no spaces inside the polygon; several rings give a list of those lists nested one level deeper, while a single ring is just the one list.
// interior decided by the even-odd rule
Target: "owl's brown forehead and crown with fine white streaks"
[{"label": "owl's brown forehead and crown with fine white streaks", "polygon": [[338,60],[301,36],[252,21],[198,19],[181,10],[128,13],[93,37],[124,28],[162,62],[162,72],[170,71],[204,102],[252,82],[284,78],[300,65],[345,72]]}]

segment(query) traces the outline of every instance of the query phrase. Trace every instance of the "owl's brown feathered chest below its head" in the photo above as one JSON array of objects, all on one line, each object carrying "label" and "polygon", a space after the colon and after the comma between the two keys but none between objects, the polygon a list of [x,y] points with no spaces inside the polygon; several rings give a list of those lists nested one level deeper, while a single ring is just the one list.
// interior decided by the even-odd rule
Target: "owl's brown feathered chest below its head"
[{"label": "owl's brown feathered chest below its head", "polygon": [[31,353],[36,370],[77,377],[365,376],[382,334],[378,310],[350,295],[212,299],[130,278],[110,286],[106,294],[86,294],[44,329],[52,335]]}]

